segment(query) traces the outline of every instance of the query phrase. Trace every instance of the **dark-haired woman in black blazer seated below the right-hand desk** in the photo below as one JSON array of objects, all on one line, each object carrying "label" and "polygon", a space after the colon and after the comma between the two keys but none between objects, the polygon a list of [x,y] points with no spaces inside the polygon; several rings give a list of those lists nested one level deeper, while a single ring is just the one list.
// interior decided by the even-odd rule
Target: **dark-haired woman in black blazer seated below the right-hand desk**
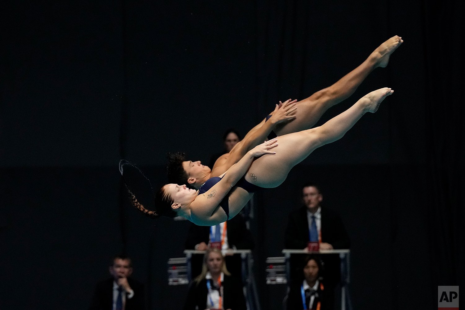
[{"label": "dark-haired woman in black blazer seated below the right-hand desk", "polygon": [[333,309],[332,295],[326,294],[328,290],[321,277],[322,262],[316,255],[307,255],[299,269],[299,280],[291,284],[287,294],[286,309]]}]

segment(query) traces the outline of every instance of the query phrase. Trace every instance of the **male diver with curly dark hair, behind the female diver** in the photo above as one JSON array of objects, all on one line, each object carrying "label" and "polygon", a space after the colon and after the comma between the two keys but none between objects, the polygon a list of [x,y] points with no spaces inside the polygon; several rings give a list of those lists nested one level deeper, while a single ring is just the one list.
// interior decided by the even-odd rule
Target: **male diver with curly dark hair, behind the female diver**
[{"label": "male diver with curly dark hair, behind the female diver", "polygon": [[[297,103],[291,99],[276,106],[262,122],[253,127],[231,151],[220,156],[210,167],[200,161],[186,159],[185,153],[168,154],[168,182],[186,184],[199,189],[209,178],[219,177],[252,147],[263,140],[282,136],[291,132],[300,132],[309,128],[320,119],[330,107],[342,102],[352,95],[363,80],[377,67],[385,67],[391,54],[404,42],[401,37],[393,36],[376,48],[357,68],[339,79],[332,86],[315,92],[310,97]],[[281,105],[281,102],[279,102]]]}]

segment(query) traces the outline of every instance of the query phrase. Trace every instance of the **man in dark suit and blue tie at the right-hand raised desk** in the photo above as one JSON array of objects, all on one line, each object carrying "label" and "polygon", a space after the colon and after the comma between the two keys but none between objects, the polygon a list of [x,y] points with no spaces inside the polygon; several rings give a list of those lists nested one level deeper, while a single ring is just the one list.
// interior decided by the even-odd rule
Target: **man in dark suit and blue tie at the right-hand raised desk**
[{"label": "man in dark suit and blue tie at the right-hand raised desk", "polygon": [[[286,228],[286,248],[306,250],[308,242],[319,242],[320,250],[348,249],[350,239],[345,231],[341,218],[334,211],[322,207],[323,195],[319,187],[307,183],[302,187],[304,205],[289,214]],[[291,259],[295,264],[297,257]],[[322,256],[325,264],[325,279],[335,286],[340,281],[339,255],[326,254]],[[292,270],[291,278],[296,270]]]}]

